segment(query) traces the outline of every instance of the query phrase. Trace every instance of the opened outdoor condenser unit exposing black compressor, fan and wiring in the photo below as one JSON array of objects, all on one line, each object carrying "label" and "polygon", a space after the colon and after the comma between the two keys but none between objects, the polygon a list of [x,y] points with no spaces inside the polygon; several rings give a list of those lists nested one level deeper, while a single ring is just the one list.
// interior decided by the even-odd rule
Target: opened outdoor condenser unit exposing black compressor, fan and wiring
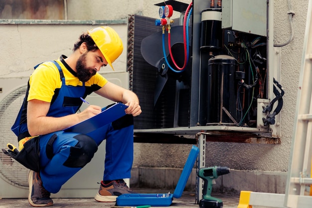
[{"label": "opened outdoor condenser unit exposing black compressor, fan and wiring", "polygon": [[[174,34],[174,30],[179,31],[188,4],[168,0],[156,5],[170,3],[176,8],[174,12],[181,13],[171,24],[170,45],[174,59],[181,65],[183,33]],[[187,134],[227,126],[234,133],[246,131],[259,136],[273,132],[279,137],[274,119],[268,119],[270,112],[264,110],[273,98],[282,100],[284,93],[273,86],[276,83],[269,69],[273,65],[269,62],[272,42],[268,39],[267,19],[269,5],[273,4],[267,4],[267,0],[255,4],[223,0],[221,6],[211,7],[210,3],[192,1],[187,45],[190,54],[182,73],[168,69],[164,61],[161,26],[155,25],[155,18],[129,16],[130,88],[138,94],[144,112],[135,118],[135,132]],[[252,17],[247,18],[244,12]],[[164,46],[168,47],[166,41]],[[172,64],[168,54],[166,51],[168,63]]]}]

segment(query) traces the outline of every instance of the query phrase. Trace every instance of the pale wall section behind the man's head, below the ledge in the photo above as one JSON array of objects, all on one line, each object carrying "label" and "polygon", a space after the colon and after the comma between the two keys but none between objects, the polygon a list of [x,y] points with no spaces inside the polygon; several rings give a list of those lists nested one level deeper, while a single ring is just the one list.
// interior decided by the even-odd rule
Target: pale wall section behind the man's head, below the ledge
[{"label": "pale wall section behind the man's head, below the ledge", "polygon": [[[0,77],[29,76],[33,66],[46,60],[70,55],[79,35],[96,27],[86,24],[1,24]],[[127,42],[125,25],[112,25]],[[114,62],[116,71],[126,71],[126,54]],[[111,72],[108,66],[103,71]]]}]

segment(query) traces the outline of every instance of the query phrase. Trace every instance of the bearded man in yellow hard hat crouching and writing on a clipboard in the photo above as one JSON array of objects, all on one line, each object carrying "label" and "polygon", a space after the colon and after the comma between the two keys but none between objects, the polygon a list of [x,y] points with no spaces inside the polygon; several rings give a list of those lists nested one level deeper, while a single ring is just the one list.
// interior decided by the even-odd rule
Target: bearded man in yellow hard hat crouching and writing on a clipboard
[{"label": "bearded man in yellow hard hat crouching and writing on a clipboard", "polygon": [[[34,144],[37,141],[39,147],[39,171],[30,171],[28,175],[31,206],[52,206],[50,193],[57,193],[65,182],[90,162],[104,139],[105,170],[95,200],[115,202],[117,196],[133,193],[123,179],[130,178],[133,116],[142,112],[139,99],[132,91],[109,82],[97,73],[107,64],[113,68],[112,63],[122,51],[122,41],[114,29],[97,27],[79,37],[69,57],[62,55],[55,62],[44,62],[31,74],[24,103],[12,127],[19,145],[28,140]],[[62,131],[101,112],[100,106],[89,105],[76,113],[82,104],[80,98],[92,92],[129,106],[125,110],[126,115],[89,136]]]}]

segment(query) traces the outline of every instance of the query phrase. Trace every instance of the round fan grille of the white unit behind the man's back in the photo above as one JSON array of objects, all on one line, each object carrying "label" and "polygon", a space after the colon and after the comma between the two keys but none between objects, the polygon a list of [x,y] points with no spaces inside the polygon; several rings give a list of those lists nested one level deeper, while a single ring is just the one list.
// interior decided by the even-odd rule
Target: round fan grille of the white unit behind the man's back
[{"label": "round fan grille of the white unit behind the man's back", "polygon": [[[17,137],[11,131],[18,111],[23,103],[27,85],[20,87],[0,101],[0,148],[7,149],[6,144],[17,145]],[[16,187],[28,187],[28,169],[0,151],[0,177]]]}]

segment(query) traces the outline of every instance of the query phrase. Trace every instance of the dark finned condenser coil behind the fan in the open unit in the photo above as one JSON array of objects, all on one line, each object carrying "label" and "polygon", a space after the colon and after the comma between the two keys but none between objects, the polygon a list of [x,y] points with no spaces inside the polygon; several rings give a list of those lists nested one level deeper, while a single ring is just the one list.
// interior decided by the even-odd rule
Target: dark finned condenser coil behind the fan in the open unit
[{"label": "dark finned condenser coil behind the fan in the open unit", "polygon": [[[178,26],[179,21],[176,20],[175,22],[176,26]],[[155,94],[159,91],[157,83],[163,81],[160,81],[161,79],[159,80],[160,76],[157,67],[144,59],[141,46],[146,37],[158,34],[157,36],[153,36],[153,38],[159,37],[155,39],[157,44],[152,44],[153,46],[150,48],[150,51],[146,49],[144,52],[145,54],[155,55],[156,53],[153,51],[159,52],[160,48],[161,54],[159,57],[158,55],[156,57],[160,58],[163,55],[161,30],[161,26],[155,25],[155,18],[129,15],[127,42],[127,70],[130,73],[129,88],[138,95],[143,111],[140,116],[134,118],[135,129],[172,128],[174,126],[188,126],[189,123],[190,91],[187,85],[190,74],[188,72],[180,75],[174,74],[169,70],[167,73],[168,79],[165,81],[163,89],[155,103]],[[183,38],[181,39],[183,41]],[[172,47],[172,51],[177,57],[182,57],[179,61],[184,61],[184,54],[180,54],[184,52],[183,48],[181,48],[183,44],[179,43],[179,41],[176,43]],[[177,80],[181,84],[177,85]],[[185,89],[181,89],[182,85],[183,88],[186,85]],[[176,108],[175,105],[179,105],[179,107]],[[177,109],[179,109],[179,112],[177,112]]]}]

